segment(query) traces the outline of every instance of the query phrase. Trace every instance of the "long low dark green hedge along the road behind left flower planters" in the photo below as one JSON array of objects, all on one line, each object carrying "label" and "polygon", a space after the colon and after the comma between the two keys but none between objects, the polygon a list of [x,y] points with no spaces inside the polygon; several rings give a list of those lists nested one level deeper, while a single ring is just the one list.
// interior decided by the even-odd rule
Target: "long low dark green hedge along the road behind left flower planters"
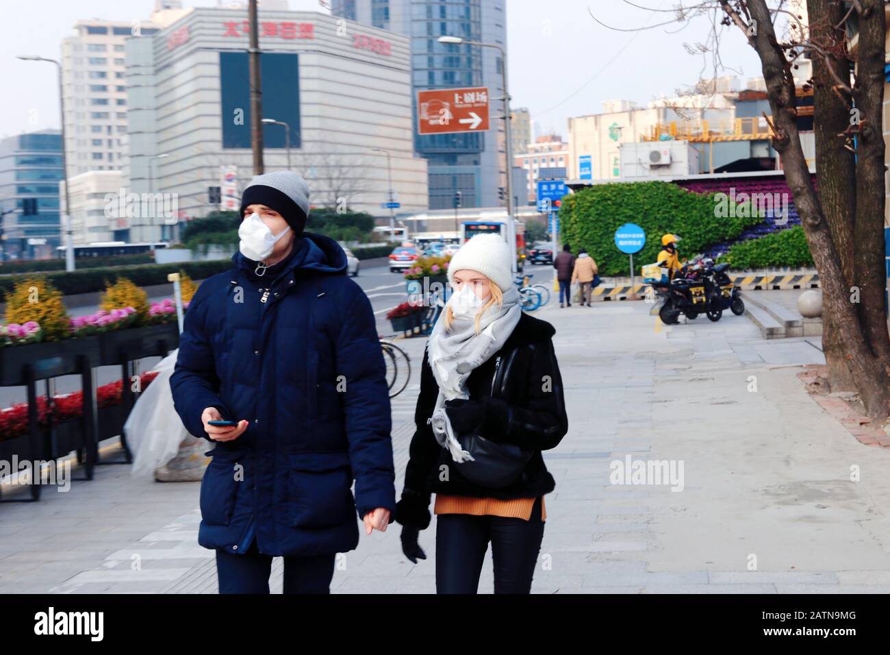
[{"label": "long low dark green hedge along the road behind left flower planters", "polygon": [[[90,293],[103,291],[105,282],[115,282],[118,277],[126,277],[138,286],[166,284],[167,274],[184,271],[192,280],[203,280],[210,275],[222,273],[232,266],[231,259],[214,259],[212,261],[176,262],[173,264],[145,264],[142,266],[108,266],[105,268],[85,268],[81,271],[66,273],[43,273],[34,276],[44,277],[48,282],[68,296],[74,293]],[[6,275],[0,277],[0,291],[4,299],[16,281],[28,277],[27,274]]]}]

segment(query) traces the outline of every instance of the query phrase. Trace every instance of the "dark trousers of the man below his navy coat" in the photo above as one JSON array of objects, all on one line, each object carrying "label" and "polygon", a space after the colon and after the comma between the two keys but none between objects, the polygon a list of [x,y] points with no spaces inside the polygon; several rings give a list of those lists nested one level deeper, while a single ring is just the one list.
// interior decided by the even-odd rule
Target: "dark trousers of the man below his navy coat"
[{"label": "dark trousers of the man below his navy coat", "polygon": [[[284,558],[285,594],[330,594],[335,554]],[[216,577],[220,594],[268,594],[272,556],[263,555],[256,539],[247,553],[216,551]]]}]

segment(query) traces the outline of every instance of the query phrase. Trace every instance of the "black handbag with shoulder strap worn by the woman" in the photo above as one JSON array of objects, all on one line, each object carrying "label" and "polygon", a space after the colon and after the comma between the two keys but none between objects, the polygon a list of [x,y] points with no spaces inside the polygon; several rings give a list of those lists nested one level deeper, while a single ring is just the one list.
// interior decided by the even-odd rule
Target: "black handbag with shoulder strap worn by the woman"
[{"label": "black handbag with shoulder strap worn by the woman", "polygon": [[[518,348],[506,357],[507,362],[501,366],[502,357],[495,361],[494,380],[491,384],[492,397],[499,397],[500,381],[503,372],[509,370],[514,363]],[[514,444],[506,444],[484,438],[479,429],[458,434],[457,443],[473,456],[473,460],[455,463],[457,471],[466,479],[480,487],[499,489],[508,487],[522,476],[526,464],[535,454],[534,450],[526,450]]]}]

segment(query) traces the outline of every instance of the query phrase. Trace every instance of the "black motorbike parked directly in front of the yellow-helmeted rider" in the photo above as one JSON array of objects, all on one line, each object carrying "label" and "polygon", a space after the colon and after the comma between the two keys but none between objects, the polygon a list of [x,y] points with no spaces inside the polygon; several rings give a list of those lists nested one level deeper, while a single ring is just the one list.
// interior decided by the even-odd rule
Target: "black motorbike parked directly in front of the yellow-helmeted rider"
[{"label": "black motorbike parked directly in front of the yellow-helmeted rider", "polygon": [[664,299],[659,318],[666,325],[676,324],[681,314],[691,320],[705,314],[715,322],[723,316],[720,287],[708,275],[700,258],[685,263],[670,282],[655,283],[652,288]]}]

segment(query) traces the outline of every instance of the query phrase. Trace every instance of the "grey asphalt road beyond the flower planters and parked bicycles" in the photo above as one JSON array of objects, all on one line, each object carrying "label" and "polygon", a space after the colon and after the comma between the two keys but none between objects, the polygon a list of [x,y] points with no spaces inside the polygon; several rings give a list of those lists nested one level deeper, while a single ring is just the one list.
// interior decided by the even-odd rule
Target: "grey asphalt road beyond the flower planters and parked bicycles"
[{"label": "grey asphalt road beyond the flower planters and parked bicycles", "polygon": [[[551,266],[527,266],[526,272],[535,274],[534,282],[546,282],[552,278]],[[388,266],[364,266],[360,267],[359,275],[353,278],[368,295],[371,307],[377,320],[377,333],[382,336],[392,335],[392,325],[386,320],[386,312],[408,299],[405,281],[401,273],[390,273]],[[162,300],[169,297],[169,292],[164,292],[164,287],[156,287],[150,290],[149,300]],[[70,307],[70,315],[91,314],[98,310],[96,305],[80,305]],[[149,371],[157,364],[159,357],[146,357],[137,364],[139,371]],[[96,384],[101,386],[119,378],[119,366],[100,366],[96,369]],[[80,390],[80,378],[77,375],[66,375],[55,379],[55,392],[57,394],[70,393]],[[45,382],[37,383],[37,392],[45,393]],[[0,408],[9,407],[15,403],[23,403],[28,399],[24,387],[0,387]]]}]

